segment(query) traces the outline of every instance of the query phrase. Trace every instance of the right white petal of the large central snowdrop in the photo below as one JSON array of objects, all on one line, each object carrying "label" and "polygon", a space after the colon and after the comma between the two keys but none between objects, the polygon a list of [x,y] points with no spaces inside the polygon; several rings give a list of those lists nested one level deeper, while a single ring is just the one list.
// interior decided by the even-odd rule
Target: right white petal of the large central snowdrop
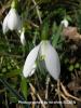
[{"label": "right white petal of the large central snowdrop", "polygon": [[59,58],[57,52],[49,41],[41,42],[41,55],[44,56],[45,66],[50,75],[55,80],[58,80],[60,73]]}]

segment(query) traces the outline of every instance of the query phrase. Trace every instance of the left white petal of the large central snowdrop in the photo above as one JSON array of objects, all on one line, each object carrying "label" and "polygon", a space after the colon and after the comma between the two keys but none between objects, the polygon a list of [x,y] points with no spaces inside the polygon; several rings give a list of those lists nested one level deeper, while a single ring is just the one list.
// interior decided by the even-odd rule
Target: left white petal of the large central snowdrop
[{"label": "left white petal of the large central snowdrop", "polygon": [[24,69],[23,69],[24,77],[29,77],[32,71],[35,72],[33,67],[35,67],[35,64],[36,64],[36,59],[37,59],[37,56],[38,56],[39,49],[40,49],[40,45],[37,45],[28,54],[26,62],[25,62],[25,65],[24,65]]}]

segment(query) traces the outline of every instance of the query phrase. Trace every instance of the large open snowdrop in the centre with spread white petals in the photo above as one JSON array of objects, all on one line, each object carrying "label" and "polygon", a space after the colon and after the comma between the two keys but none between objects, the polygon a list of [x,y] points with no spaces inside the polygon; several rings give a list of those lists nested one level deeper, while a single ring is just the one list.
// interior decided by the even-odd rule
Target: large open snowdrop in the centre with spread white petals
[{"label": "large open snowdrop in the centre with spread white petals", "polygon": [[55,80],[58,80],[60,73],[59,58],[57,52],[48,40],[41,41],[40,44],[35,46],[28,54],[23,69],[24,77],[27,78],[35,73],[37,68],[36,59],[38,56],[43,56],[46,70]]}]

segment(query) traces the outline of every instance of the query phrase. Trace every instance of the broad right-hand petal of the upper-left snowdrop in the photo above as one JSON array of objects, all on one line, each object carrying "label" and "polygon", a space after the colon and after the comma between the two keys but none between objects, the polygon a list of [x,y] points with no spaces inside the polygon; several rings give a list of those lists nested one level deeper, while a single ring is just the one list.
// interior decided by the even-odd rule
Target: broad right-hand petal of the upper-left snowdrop
[{"label": "broad right-hand petal of the upper-left snowdrop", "polygon": [[21,17],[15,9],[11,9],[9,12],[8,27],[11,30],[21,29]]}]

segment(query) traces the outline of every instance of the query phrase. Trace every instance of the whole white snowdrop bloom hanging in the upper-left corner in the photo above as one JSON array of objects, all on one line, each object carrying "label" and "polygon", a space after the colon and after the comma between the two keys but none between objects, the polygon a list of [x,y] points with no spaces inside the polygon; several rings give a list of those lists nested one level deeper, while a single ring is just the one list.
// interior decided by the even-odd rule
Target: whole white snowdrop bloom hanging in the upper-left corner
[{"label": "whole white snowdrop bloom hanging in the upper-left corner", "polygon": [[17,14],[15,9],[11,9],[8,15],[5,16],[2,25],[3,33],[5,33],[9,29],[15,30],[21,29],[21,17]]}]

